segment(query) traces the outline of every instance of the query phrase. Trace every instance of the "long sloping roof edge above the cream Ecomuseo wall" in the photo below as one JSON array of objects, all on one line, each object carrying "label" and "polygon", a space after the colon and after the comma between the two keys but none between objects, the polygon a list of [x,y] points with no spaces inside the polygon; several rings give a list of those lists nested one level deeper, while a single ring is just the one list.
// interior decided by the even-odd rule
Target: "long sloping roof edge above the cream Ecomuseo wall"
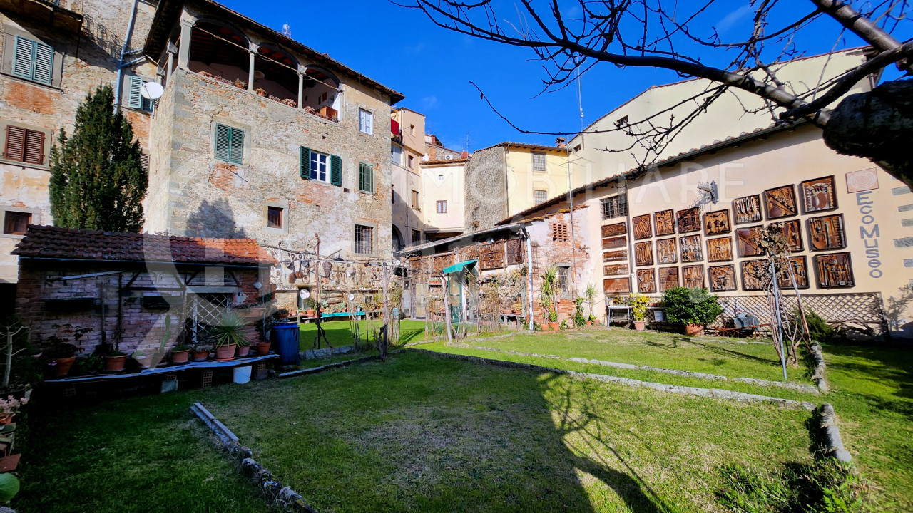
[{"label": "long sloping roof edge above the cream Ecomuseo wall", "polygon": [[[798,120],[792,124],[772,123],[770,126],[767,126],[764,128],[758,128],[758,129],[755,129],[754,131],[750,131],[750,132],[743,131],[739,135],[730,135],[723,141],[713,141],[712,143],[701,145],[700,148],[692,148],[691,150],[688,150],[687,152],[681,152],[681,153],[678,153],[677,155],[667,157],[666,159],[657,161],[657,162],[651,164],[650,166],[635,167],[625,173],[614,174],[612,176],[603,178],[601,180],[597,180],[595,182],[581,185],[580,187],[576,187],[575,189],[573,189],[572,194],[577,195],[577,194],[586,192],[588,190],[595,189],[597,187],[607,187],[607,186],[612,185],[613,183],[617,184],[619,182],[619,180],[622,178],[624,178],[624,180],[630,180],[630,179],[636,178],[640,173],[643,173],[648,168],[657,168],[658,169],[660,167],[673,165],[673,164],[676,164],[681,161],[692,160],[705,153],[718,152],[719,150],[722,150],[724,148],[729,148],[730,146],[736,146],[742,142],[752,141],[755,139],[761,139],[762,137],[766,137],[768,135],[778,133],[781,131],[789,131],[796,127],[805,125],[805,124],[807,124],[807,121]],[[551,199],[548,199],[540,204],[530,206],[530,208],[528,208],[522,212],[511,215],[506,219],[502,219],[501,221],[498,221],[498,223],[496,223],[495,225],[505,225],[506,223],[516,222],[518,217],[523,218],[524,221],[530,221],[530,219],[528,218],[529,215],[534,214],[537,211],[543,210],[551,205],[560,204],[562,201],[566,201],[567,197],[568,197],[567,193],[558,194],[557,196],[554,196]]]}]

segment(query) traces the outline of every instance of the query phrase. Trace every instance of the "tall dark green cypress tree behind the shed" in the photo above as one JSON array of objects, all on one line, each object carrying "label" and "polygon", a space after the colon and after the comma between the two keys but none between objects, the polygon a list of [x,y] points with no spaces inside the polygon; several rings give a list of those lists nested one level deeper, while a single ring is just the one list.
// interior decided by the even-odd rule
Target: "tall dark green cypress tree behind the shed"
[{"label": "tall dark green cypress tree behind the shed", "polygon": [[148,175],[130,120],[114,110],[114,91],[100,86],[76,110],[72,137],[60,130],[51,149],[54,225],[106,232],[142,229]]}]

